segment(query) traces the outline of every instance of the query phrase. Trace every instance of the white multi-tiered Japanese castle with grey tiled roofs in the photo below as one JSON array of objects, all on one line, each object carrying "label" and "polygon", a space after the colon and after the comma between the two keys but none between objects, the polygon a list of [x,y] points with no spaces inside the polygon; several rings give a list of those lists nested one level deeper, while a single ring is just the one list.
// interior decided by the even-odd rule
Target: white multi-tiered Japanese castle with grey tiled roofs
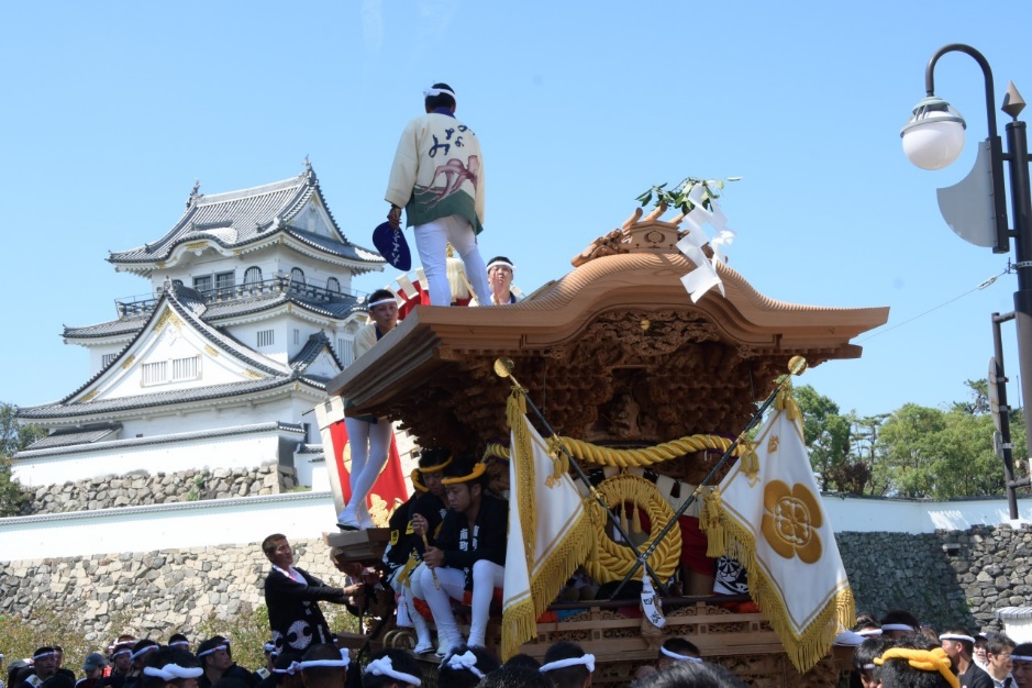
[{"label": "white multi-tiered Japanese castle with grey tiled roofs", "polygon": [[354,359],[366,315],[352,278],[384,259],[347,240],[308,160],[284,181],[199,188],[164,236],[108,257],[151,293],[65,328],[90,352],[89,379],[19,409],[49,432],[16,456],[22,485],[273,462],[310,485],[322,451],[308,412]]}]

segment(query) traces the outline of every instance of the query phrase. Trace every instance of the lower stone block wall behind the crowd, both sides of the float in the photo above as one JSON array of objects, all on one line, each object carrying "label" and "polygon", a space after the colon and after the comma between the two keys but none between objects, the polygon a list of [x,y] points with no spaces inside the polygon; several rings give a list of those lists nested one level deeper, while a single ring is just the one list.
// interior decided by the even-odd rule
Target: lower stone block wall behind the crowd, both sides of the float
[{"label": "lower stone block wall behind the crowd, both sides of the float", "polygon": [[[1032,606],[1029,526],[841,533],[837,540],[858,611],[880,617],[901,608],[940,630],[986,630],[1001,628],[996,609]],[[341,584],[325,544],[291,544],[299,566]],[[189,634],[212,614],[229,619],[264,604],[267,572],[259,543],[9,562],[0,565],[0,614],[48,606],[79,619],[98,641],[115,631],[112,624],[156,637]]]}]

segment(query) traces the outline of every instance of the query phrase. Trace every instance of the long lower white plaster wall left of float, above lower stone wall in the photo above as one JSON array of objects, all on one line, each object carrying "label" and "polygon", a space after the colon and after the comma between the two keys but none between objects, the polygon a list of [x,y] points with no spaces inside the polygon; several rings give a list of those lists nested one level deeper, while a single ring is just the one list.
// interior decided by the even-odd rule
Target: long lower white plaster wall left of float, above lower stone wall
[{"label": "long lower white plaster wall left of float, above lower stone wall", "polygon": [[328,491],[18,517],[0,519],[0,561],[322,537],[335,523]]}]

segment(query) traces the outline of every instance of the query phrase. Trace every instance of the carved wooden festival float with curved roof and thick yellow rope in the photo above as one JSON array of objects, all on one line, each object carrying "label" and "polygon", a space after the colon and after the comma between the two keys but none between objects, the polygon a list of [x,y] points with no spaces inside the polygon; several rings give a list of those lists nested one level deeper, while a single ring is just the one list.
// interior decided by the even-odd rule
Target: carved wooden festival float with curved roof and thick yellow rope
[{"label": "carved wooden festival float with curved roof and thick yellow rope", "polygon": [[[712,469],[728,439],[750,423],[791,357],[803,356],[811,367],[856,358],[861,347],[851,340],[888,318],[887,308],[776,301],[719,262],[713,265],[724,296],[712,289],[692,302],[681,277],[697,268],[676,247],[687,232],[680,229],[681,218],[662,220],[663,210],[647,217],[636,210],[621,229],[576,256],[573,271],[520,303],[415,308],[333,380],[331,395],[346,397],[349,413],[400,420],[421,446],[502,456],[510,437],[506,408],[512,385],[496,374],[495,364],[509,358],[556,433],[584,441],[587,448],[575,457],[587,474],[596,479],[603,473],[647,478],[623,476],[635,489],[644,484],[652,495],[618,495],[611,506],[630,530],[646,523],[646,533],[637,540],[632,535],[632,541],[654,536]],[[645,451],[623,467],[609,465],[613,462],[606,455],[607,447],[662,443],[664,451]],[[510,524],[510,536],[511,530]],[[600,584],[620,581],[635,554],[612,541],[611,525],[597,530],[599,552],[608,559],[588,569]],[[741,603],[747,599],[743,597],[713,596],[711,579],[683,577],[679,529],[665,540],[673,544],[657,548],[650,559],[661,576],[674,574],[679,580],[663,602],[665,628],[642,618],[633,595],[585,600],[564,590],[521,652],[540,657],[557,640],[580,643],[597,657],[595,683],[622,686],[637,666],[655,663],[666,636],[684,635],[706,661],[755,686],[839,681],[852,651],[837,662],[829,654],[799,675],[755,604]],[[329,544],[339,545],[339,564],[373,561],[385,541],[386,531],[328,535]],[[672,546],[677,551],[670,552]],[[499,643],[493,620],[492,626]],[[401,636],[393,633],[389,642]]]}]

